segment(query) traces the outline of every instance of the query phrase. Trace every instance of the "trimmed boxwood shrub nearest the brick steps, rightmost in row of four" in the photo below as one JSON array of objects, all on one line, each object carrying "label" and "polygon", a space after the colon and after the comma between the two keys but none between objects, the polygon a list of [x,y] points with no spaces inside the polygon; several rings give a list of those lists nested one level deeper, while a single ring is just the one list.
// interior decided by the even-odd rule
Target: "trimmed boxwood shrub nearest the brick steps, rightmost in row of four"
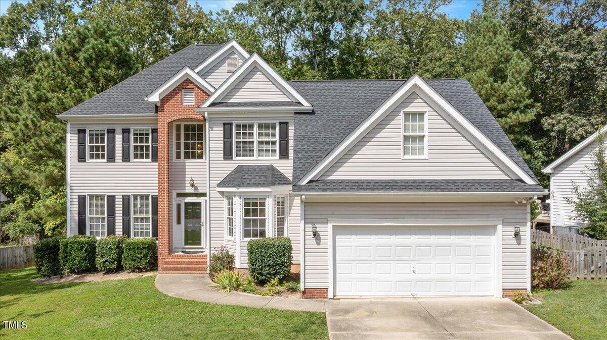
[{"label": "trimmed boxwood shrub nearest the brick steps, rightmost in row of four", "polygon": [[123,243],[122,266],[127,272],[147,272],[156,267],[155,238],[129,238]]}]

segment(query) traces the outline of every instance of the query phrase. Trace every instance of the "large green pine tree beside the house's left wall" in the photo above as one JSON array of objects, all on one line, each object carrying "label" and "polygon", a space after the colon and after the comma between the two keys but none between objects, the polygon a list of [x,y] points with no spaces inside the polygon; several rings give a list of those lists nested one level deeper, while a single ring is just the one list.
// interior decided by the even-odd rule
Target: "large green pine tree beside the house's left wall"
[{"label": "large green pine tree beside the house's left wall", "polygon": [[[0,108],[2,181],[7,192],[3,232],[27,222],[44,234],[65,232],[65,125],[57,114],[112,87],[139,70],[121,31],[94,21],[62,34],[18,91],[17,105]],[[17,190],[18,189],[18,190]],[[24,197],[27,195],[27,198]],[[6,212],[5,212],[6,211]],[[38,226],[38,229],[36,229]],[[13,236],[15,234],[10,234]]]}]

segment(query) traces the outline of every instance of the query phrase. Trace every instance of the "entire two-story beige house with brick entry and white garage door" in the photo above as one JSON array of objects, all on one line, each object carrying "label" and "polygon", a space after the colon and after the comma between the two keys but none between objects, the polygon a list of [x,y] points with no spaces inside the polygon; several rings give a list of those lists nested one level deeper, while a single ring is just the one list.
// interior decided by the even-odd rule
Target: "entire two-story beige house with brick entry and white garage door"
[{"label": "entire two-story beige house with brick entry and white garage door", "polygon": [[308,297],[531,289],[544,189],[464,79],[287,82],[230,41],[59,117],[68,236],[157,237],[160,272],[284,235]]}]

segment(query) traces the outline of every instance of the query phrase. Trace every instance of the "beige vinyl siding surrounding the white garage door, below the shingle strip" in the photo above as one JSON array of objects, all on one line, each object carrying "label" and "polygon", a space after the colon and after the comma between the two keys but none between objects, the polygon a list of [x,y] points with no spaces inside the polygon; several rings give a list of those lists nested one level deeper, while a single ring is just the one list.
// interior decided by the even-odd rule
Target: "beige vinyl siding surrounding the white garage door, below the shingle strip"
[{"label": "beige vinyl siding surrounding the white garage door, below the shingle strip", "polygon": [[[487,203],[305,203],[305,287],[328,287],[328,218],[334,219],[503,219],[502,280],[504,289],[527,287],[526,204],[511,201]],[[312,224],[318,229],[311,237]],[[512,238],[514,227],[521,227],[521,241]],[[318,241],[319,240],[319,241]]]}]

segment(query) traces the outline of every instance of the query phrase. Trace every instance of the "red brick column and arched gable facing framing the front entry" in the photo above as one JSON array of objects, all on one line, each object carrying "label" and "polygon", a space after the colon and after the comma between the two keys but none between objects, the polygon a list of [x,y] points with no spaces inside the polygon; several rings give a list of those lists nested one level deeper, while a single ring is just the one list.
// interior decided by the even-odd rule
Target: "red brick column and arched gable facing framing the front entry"
[{"label": "red brick column and arched gable facing framing the front entry", "polygon": [[[181,103],[181,90],[184,88],[194,89],[194,105],[183,105]],[[158,105],[158,268],[161,272],[163,271],[164,259],[168,258],[171,252],[169,125],[178,119],[205,120],[205,117],[196,113],[194,108],[197,108],[208,97],[209,94],[202,88],[198,87],[192,80],[186,79],[162,97],[160,105]],[[200,259],[197,260],[200,261]]]}]

